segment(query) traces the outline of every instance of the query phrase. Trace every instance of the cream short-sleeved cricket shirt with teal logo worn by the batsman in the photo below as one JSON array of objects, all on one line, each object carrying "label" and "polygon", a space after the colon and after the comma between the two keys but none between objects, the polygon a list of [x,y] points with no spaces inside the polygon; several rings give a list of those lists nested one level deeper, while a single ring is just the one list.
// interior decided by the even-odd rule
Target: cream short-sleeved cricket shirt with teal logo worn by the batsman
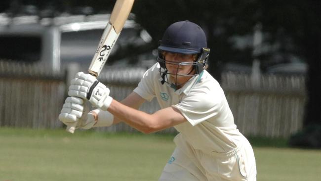
[{"label": "cream short-sleeved cricket shirt with teal logo worn by the batsman", "polygon": [[156,97],[161,108],[172,106],[187,119],[174,126],[181,134],[174,140],[177,146],[186,141],[194,149],[223,153],[241,143],[244,136],[234,124],[225,94],[206,70],[175,90],[167,83],[161,84],[159,68],[156,63],[147,70],[133,91],[148,101]]}]

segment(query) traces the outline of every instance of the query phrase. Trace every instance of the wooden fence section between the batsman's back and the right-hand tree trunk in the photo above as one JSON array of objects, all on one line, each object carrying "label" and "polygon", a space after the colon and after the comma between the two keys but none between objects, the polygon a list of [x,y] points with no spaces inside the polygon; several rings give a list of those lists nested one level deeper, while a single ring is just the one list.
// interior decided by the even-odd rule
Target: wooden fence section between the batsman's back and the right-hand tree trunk
[{"label": "wooden fence section between the batsman's back and the right-hand tree trunk", "polygon": [[305,77],[223,73],[225,91],[235,123],[245,135],[288,137],[302,129],[306,101]]}]

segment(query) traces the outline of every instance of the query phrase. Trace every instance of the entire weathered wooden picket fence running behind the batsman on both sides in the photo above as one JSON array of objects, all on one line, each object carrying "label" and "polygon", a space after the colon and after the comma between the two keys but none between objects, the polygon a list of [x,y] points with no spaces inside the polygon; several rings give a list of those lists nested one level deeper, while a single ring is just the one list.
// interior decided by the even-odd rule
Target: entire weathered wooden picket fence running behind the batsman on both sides
[{"label": "entire weathered wooden picket fence running behind the batsman on both sides", "polygon": [[[99,80],[111,89],[111,96],[123,99],[138,84],[144,68],[119,68],[104,71]],[[0,127],[58,129],[58,115],[75,69],[54,73],[38,65],[0,61]],[[304,76],[262,75],[252,84],[251,75],[222,74],[225,91],[235,123],[246,136],[289,137],[302,128],[306,101]],[[157,101],[143,104],[141,110],[152,113]],[[136,132],[121,123],[106,132]],[[171,128],[161,133],[176,133]]]}]

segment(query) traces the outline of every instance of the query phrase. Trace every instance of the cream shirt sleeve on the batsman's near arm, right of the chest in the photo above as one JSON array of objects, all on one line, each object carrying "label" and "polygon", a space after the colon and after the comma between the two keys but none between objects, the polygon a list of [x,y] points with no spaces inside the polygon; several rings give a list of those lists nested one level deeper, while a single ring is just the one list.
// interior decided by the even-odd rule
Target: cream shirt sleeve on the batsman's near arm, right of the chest
[{"label": "cream shirt sleeve on the batsman's near arm, right of the chest", "polygon": [[172,105],[193,126],[219,114],[222,98],[210,89],[197,88],[190,91],[180,103]]}]

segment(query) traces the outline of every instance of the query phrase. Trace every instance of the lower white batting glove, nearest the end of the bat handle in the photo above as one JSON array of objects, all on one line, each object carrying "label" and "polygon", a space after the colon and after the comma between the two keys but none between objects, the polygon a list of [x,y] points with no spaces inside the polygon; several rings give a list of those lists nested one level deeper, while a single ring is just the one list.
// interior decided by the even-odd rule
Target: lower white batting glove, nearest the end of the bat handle
[{"label": "lower white batting glove, nearest the end of the bat handle", "polygon": [[88,130],[96,123],[95,116],[88,113],[88,106],[79,97],[67,97],[59,114],[59,120],[70,126],[77,122],[76,129]]}]

